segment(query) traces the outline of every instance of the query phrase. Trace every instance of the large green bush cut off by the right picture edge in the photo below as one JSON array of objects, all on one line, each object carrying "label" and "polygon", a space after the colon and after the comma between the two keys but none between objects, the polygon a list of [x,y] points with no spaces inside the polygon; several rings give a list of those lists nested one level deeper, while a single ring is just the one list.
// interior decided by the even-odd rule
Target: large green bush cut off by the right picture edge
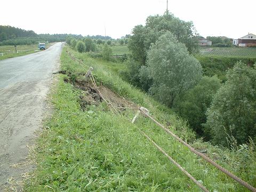
[{"label": "large green bush cut off by the right picture edge", "polygon": [[238,144],[256,138],[256,66],[237,62],[227,73],[227,81],[207,110],[205,132],[214,145],[227,146],[226,137]]}]

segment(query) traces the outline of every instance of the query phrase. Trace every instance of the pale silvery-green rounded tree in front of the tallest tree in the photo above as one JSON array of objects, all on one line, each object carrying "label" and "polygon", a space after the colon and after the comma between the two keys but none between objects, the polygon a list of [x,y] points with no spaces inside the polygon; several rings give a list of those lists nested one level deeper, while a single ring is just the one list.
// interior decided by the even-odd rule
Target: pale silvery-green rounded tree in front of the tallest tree
[{"label": "pale silvery-green rounded tree in front of the tallest tree", "polygon": [[169,31],[150,47],[147,70],[149,78],[153,79],[150,93],[169,107],[202,77],[200,63]]}]

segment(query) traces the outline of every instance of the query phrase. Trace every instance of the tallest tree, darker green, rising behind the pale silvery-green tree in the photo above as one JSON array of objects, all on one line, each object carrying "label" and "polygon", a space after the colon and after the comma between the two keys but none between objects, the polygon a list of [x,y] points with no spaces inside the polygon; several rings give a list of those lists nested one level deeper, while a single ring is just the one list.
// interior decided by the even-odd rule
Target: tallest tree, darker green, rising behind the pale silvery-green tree
[{"label": "tallest tree, darker green, rising behind the pale silvery-green tree", "polygon": [[147,91],[148,86],[141,82],[150,82],[150,79],[140,77],[140,68],[146,66],[147,52],[150,46],[158,41],[158,38],[170,31],[178,42],[185,44],[189,53],[197,52],[197,40],[194,36],[192,22],[185,22],[175,18],[173,14],[166,11],[163,15],[149,16],[145,26],[135,26],[132,30],[128,47],[131,53],[128,76],[130,82]]}]

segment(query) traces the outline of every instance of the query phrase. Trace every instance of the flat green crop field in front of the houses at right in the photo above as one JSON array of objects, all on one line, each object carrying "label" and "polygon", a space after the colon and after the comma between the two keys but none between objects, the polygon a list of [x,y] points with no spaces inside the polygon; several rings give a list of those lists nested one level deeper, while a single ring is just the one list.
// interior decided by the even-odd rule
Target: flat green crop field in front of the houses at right
[{"label": "flat green crop field in front of the houses at right", "polygon": [[200,53],[227,57],[256,57],[256,47],[200,47]]}]

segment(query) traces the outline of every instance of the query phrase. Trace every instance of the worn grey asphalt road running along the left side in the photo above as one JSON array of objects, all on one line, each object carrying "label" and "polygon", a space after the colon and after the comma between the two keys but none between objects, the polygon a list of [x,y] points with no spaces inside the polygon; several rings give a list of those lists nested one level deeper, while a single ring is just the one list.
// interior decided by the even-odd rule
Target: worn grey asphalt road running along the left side
[{"label": "worn grey asphalt road running along the left side", "polygon": [[45,51],[0,61],[0,191],[33,165],[15,168],[47,113],[46,95],[59,68],[62,43]]}]

